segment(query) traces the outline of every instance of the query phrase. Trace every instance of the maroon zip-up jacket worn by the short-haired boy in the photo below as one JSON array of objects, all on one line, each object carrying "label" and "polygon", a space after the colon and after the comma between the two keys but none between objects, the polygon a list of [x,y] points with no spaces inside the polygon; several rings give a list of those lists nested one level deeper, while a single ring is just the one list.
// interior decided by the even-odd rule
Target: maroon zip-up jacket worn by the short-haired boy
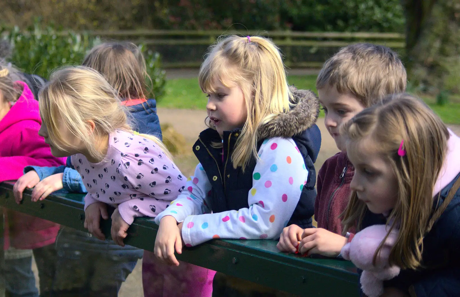
[{"label": "maroon zip-up jacket worn by the short-haired boy", "polygon": [[[343,151],[328,158],[322,165],[316,183],[315,220],[318,228],[342,234],[339,215],[348,204],[354,173],[355,168]],[[354,228],[349,232],[355,233]]]}]

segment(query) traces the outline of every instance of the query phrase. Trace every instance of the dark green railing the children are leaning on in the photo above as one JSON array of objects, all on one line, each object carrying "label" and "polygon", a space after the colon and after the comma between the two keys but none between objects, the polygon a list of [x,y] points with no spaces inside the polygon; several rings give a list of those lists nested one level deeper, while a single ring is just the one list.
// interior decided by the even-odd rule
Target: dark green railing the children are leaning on
[{"label": "dark green railing the children are leaning on", "polygon": [[[43,201],[30,201],[24,191],[22,204],[13,197],[13,182],[0,183],[0,206],[87,231],[81,194],[54,194]],[[110,237],[110,220],[101,227]],[[153,250],[158,226],[154,221],[137,218],[128,230],[127,245]],[[233,275],[300,296],[358,296],[357,270],[351,262],[315,259],[279,252],[274,240],[213,239],[202,245],[185,248],[179,260],[224,274]]]}]

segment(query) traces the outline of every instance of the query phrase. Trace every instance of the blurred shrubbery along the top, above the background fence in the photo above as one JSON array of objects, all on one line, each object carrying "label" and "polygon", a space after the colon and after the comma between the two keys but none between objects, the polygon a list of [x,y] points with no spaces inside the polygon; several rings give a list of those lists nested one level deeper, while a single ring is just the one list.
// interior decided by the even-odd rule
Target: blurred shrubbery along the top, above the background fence
[{"label": "blurred shrubbery along the top, above the background fence", "polygon": [[[420,2],[420,1],[419,1]],[[424,1],[421,1],[424,2]],[[33,16],[75,30],[246,29],[404,32],[401,0],[2,0],[0,22]]]}]

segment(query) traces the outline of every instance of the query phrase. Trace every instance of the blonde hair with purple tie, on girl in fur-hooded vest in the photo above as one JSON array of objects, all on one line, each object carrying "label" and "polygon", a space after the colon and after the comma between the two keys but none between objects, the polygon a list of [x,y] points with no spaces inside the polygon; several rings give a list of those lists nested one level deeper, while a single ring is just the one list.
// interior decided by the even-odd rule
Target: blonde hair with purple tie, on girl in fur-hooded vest
[{"label": "blonde hair with purple tie, on girl in fur-hooded vest", "polygon": [[[233,167],[245,166],[257,158],[258,130],[282,112],[289,111],[291,93],[286,71],[276,45],[267,38],[231,35],[221,37],[209,48],[201,64],[198,81],[204,93],[216,92],[216,84],[241,87],[247,120],[232,153]],[[208,127],[213,128],[207,120]]]}]

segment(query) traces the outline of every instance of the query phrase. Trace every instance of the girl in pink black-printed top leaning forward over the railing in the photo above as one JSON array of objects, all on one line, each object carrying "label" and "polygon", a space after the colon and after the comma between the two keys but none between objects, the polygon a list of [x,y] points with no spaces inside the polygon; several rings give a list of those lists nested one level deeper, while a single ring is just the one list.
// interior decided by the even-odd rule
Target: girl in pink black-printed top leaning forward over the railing
[{"label": "girl in pink black-printed top leaning forward over the railing", "polygon": [[115,207],[112,239],[123,239],[135,217],[155,217],[183,191],[185,178],[154,136],[134,133],[118,92],[96,70],[64,67],[40,92],[39,134],[56,157],[71,156],[88,191],[85,227],[104,240],[99,221]]}]

